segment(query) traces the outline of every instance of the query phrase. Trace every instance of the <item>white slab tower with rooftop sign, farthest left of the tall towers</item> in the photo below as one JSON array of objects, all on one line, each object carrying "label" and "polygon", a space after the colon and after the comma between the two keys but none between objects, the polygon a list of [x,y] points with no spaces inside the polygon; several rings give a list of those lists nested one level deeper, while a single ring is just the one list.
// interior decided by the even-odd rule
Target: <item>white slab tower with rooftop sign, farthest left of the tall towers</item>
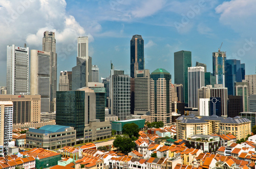
[{"label": "white slab tower with rooftop sign, farthest left of the tall towers", "polygon": [[19,95],[29,92],[29,48],[7,46],[7,94]]}]

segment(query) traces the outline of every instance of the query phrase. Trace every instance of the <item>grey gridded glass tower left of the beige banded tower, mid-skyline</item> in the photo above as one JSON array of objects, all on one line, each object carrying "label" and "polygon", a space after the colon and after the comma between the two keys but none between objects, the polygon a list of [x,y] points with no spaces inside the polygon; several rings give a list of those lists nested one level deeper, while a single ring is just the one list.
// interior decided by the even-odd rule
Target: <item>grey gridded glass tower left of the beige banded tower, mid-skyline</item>
[{"label": "grey gridded glass tower left of the beige banded tower, mid-skyline", "polygon": [[129,75],[112,75],[111,114],[125,120],[131,114],[131,86]]}]

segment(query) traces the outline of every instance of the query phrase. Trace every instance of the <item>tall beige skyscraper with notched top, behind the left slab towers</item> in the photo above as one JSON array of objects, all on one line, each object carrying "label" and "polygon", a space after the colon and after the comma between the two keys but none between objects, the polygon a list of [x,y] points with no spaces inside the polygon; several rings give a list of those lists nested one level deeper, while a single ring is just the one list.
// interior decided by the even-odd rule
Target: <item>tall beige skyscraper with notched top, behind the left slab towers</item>
[{"label": "tall beige skyscraper with notched top, behind the left slab towers", "polygon": [[57,91],[57,53],[55,33],[46,31],[42,38],[42,50],[50,52],[50,111],[54,112],[54,99]]}]

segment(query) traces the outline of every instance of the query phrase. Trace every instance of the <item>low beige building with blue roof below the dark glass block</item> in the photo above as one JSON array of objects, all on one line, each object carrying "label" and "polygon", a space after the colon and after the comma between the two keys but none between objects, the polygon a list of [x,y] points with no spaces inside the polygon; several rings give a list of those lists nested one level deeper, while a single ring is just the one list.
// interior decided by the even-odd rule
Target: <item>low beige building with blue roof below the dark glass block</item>
[{"label": "low beige building with blue roof below the dark glass block", "polygon": [[39,129],[29,128],[26,133],[27,147],[59,149],[65,146],[74,146],[76,130],[74,127],[47,125]]}]

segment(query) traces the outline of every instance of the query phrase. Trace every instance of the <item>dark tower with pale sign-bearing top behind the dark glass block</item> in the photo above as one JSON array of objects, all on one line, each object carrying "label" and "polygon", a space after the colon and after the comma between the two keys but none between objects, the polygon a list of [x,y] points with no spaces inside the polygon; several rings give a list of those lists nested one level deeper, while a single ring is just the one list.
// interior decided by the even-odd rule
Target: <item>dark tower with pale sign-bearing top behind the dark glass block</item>
[{"label": "dark tower with pale sign-bearing top behind the dark glass block", "polygon": [[106,89],[104,83],[88,82],[89,89],[92,89],[96,96],[96,119],[105,121]]}]

